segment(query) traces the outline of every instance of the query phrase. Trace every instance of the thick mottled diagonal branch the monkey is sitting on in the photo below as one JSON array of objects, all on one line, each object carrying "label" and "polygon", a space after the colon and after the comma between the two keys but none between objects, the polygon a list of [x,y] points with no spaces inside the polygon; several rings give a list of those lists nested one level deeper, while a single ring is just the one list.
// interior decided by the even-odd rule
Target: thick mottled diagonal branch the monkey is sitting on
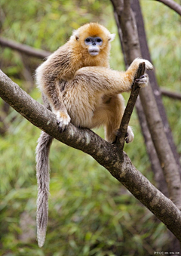
[{"label": "thick mottled diagonal branch the monkey is sitting on", "polygon": [[60,134],[56,116],[33,100],[2,71],[0,71],[0,97],[33,125],[96,159],[181,241],[181,212],[140,171],[137,171],[126,153],[122,153],[124,156],[122,158],[118,147],[106,142],[93,131],[76,128],[72,124]]}]

